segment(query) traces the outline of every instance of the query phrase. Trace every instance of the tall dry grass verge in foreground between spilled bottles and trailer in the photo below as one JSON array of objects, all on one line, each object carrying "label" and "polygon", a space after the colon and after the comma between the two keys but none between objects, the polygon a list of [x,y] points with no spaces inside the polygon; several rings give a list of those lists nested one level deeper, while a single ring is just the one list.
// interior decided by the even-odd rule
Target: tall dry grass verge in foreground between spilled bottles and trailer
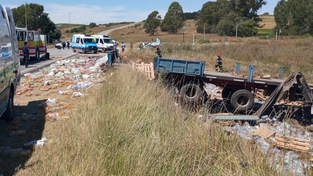
[{"label": "tall dry grass verge in foreground between spilled bottles and trailer", "polygon": [[35,151],[17,175],[276,175],[255,144],[202,123],[129,68],[76,106],[69,120],[44,129],[59,141]]}]

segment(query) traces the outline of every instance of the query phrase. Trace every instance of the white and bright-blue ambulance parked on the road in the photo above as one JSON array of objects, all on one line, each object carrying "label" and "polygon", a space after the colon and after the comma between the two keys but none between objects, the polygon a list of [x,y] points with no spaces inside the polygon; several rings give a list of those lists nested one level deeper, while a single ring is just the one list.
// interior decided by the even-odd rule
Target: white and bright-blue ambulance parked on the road
[{"label": "white and bright-blue ambulance parked on the road", "polygon": [[98,53],[95,39],[91,35],[74,34],[72,37],[73,52],[76,51],[86,54],[87,52]]}]

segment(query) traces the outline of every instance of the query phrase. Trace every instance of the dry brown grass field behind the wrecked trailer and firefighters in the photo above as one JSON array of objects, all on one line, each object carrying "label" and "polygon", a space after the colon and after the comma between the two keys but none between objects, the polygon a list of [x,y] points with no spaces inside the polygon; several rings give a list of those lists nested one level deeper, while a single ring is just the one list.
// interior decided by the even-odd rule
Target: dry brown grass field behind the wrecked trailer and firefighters
[{"label": "dry brown grass field behind the wrecked trailer and firefighters", "polygon": [[[247,72],[249,65],[254,65],[254,73],[260,75],[270,74],[277,77],[280,67],[285,68],[285,77],[294,71],[300,70],[308,80],[313,83],[313,42],[312,38],[274,40],[251,40],[242,43],[228,44],[196,44],[178,45],[164,43],[161,50],[164,58],[177,58],[187,60],[206,61],[206,70],[213,70],[216,62],[216,53],[221,53],[223,67],[228,71],[235,69],[236,62],[241,63],[241,71]],[[138,46],[135,43],[134,46]],[[127,50],[125,55],[136,60],[152,62],[155,48],[132,51]]]}]

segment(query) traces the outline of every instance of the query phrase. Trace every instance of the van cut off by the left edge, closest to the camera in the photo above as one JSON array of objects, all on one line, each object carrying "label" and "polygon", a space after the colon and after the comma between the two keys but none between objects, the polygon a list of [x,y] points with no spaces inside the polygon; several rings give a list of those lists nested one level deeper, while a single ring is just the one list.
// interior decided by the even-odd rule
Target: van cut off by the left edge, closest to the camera
[{"label": "van cut off by the left edge, closest to the camera", "polygon": [[0,114],[6,121],[13,119],[14,93],[20,82],[20,61],[11,8],[0,4]]}]

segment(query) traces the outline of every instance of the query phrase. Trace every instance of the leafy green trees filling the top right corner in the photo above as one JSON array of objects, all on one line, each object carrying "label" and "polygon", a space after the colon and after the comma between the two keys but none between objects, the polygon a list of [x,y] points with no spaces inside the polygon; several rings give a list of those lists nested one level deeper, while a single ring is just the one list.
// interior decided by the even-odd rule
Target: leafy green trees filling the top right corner
[{"label": "leafy green trees filling the top right corner", "polygon": [[313,35],[313,2],[280,0],[274,9],[275,30],[282,35]]}]

